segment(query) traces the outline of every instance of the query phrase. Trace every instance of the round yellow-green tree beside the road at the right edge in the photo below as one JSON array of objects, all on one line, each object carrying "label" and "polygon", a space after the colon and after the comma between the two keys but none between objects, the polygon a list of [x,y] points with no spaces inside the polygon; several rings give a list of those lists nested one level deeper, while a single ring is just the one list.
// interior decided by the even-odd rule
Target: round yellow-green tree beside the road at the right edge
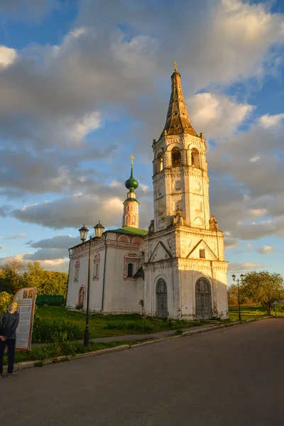
[{"label": "round yellow-green tree beside the road at the right edge", "polygon": [[284,280],[279,273],[249,272],[240,288],[245,297],[265,307],[268,315],[271,315],[273,303],[284,298]]}]

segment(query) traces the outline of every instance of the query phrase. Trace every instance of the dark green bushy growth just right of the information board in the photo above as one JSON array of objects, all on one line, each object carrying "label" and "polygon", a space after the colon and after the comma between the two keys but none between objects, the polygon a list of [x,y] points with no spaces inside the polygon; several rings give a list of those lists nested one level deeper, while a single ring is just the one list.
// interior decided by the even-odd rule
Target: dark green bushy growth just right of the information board
[{"label": "dark green bushy growth just right of the information board", "polygon": [[38,315],[33,323],[33,343],[54,342],[56,334],[65,334],[65,340],[78,340],[84,337],[84,330],[75,322],[65,318],[43,320]]}]

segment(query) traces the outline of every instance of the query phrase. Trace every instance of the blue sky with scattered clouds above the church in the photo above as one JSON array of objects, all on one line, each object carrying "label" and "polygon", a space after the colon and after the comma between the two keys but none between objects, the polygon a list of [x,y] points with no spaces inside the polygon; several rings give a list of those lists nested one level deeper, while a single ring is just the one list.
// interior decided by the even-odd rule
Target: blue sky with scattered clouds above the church
[{"label": "blue sky with scattered clouds above the church", "polygon": [[284,0],[2,0],[1,261],[67,271],[82,224],[121,226],[132,154],[148,229],[173,61],[229,275],[284,274]]}]

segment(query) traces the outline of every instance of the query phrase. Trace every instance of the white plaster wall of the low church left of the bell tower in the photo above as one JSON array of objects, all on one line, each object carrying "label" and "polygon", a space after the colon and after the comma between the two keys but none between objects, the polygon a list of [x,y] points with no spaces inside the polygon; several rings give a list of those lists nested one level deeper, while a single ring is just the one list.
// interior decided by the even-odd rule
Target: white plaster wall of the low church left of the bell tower
[{"label": "white plaster wall of the low church left of the bell tower", "polygon": [[[91,279],[89,291],[89,309],[91,312],[119,313],[119,312],[137,312],[142,313],[143,306],[143,280],[124,279],[124,256],[127,253],[136,253],[138,264],[133,260],[136,273],[141,266],[145,250],[144,239],[138,237],[142,244],[133,245],[131,243],[120,244],[116,241],[117,234],[109,232],[107,234],[107,263],[105,270],[105,293],[104,310],[102,311],[102,293],[104,280],[104,239],[97,244],[92,245],[91,249]],[[136,247],[136,248],[134,248]],[[84,244],[80,249],[75,249],[70,258],[70,274],[67,290],[67,307],[75,307],[78,304],[79,291],[82,285],[85,287],[84,309],[87,304],[87,280],[89,267],[89,245]],[[99,254],[99,279],[93,279],[94,275],[94,256]],[[75,264],[79,259],[80,268],[78,280],[75,281]]]}]

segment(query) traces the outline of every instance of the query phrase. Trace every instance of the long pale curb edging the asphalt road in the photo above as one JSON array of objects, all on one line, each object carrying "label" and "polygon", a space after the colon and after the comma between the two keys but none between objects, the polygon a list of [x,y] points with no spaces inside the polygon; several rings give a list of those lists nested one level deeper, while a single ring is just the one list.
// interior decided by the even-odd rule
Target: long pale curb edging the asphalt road
[{"label": "long pale curb edging the asphalt road", "polygon": [[[120,346],[115,346],[114,348],[107,348],[107,349],[99,349],[98,351],[92,351],[92,352],[85,352],[84,354],[77,354],[77,355],[60,355],[55,356],[54,358],[50,359],[44,359],[44,360],[35,360],[35,361],[24,361],[19,362],[18,364],[15,364],[15,371],[17,370],[23,370],[23,368],[31,368],[35,366],[44,366],[47,364],[57,364],[62,361],[71,361],[73,359],[81,359],[81,358],[89,358],[90,356],[97,356],[102,354],[108,354],[109,352],[118,352],[118,351],[125,351],[126,349],[133,349],[137,348],[138,346],[144,346],[146,344],[153,344],[158,342],[165,342],[166,340],[172,340],[172,339],[178,339],[180,337],[187,337],[192,336],[194,334],[201,334],[206,332],[211,332],[217,329],[225,328],[225,327],[232,327],[237,324],[245,324],[246,322],[253,322],[253,321],[260,321],[260,320],[268,320],[269,318],[274,318],[272,315],[270,317],[263,317],[263,318],[254,318],[253,320],[246,320],[246,321],[236,321],[231,322],[229,324],[220,324],[220,325],[214,325],[212,327],[207,327],[199,330],[192,330],[189,332],[183,332],[182,334],[170,336],[170,337],[161,337],[160,339],[153,339],[148,340],[147,342],[141,342],[136,344],[121,344]],[[4,373],[7,371],[7,366],[4,366]]]}]

